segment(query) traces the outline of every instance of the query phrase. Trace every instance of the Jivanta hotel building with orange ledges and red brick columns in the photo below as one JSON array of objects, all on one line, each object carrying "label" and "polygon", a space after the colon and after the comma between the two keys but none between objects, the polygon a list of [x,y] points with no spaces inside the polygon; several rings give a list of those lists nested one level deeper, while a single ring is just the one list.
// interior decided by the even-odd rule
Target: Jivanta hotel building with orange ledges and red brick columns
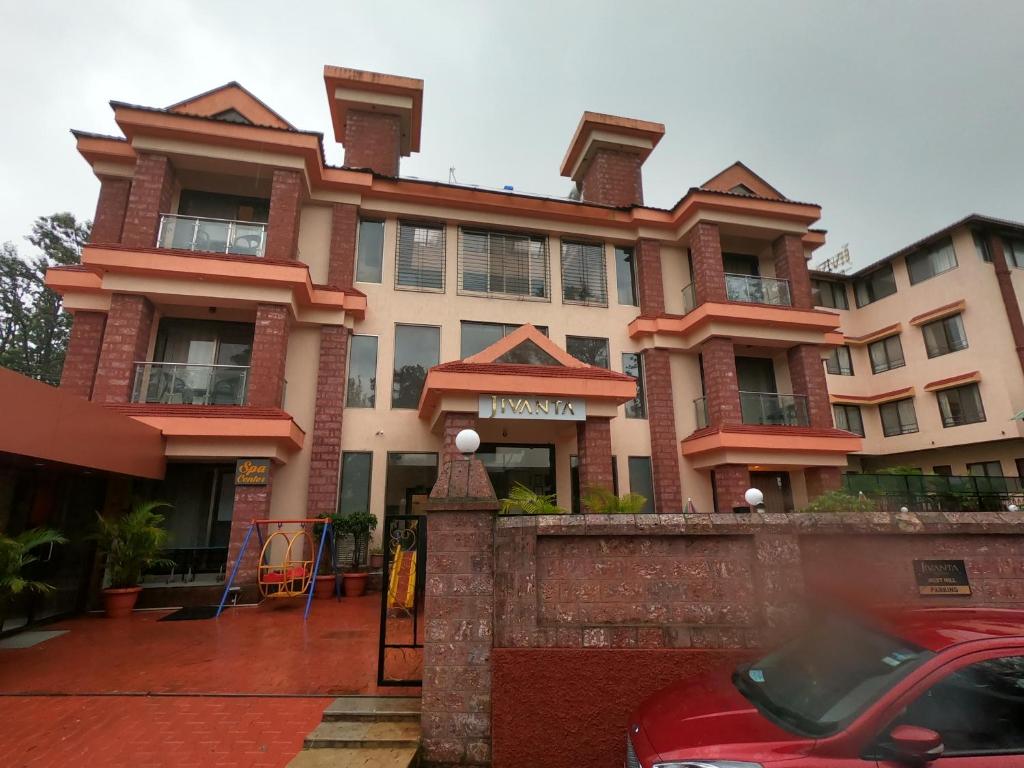
[{"label": "Jivanta hotel building with orange ledges and red brick columns", "polygon": [[[415,513],[470,425],[499,496],[566,508],[603,486],[731,511],[758,484],[781,510],[838,485],[862,441],[833,425],[817,205],[736,163],[645,206],[664,126],[589,112],[566,198],[403,178],[422,81],[324,82],[344,167],[237,83],[75,132],[100,190],[82,265],[48,275],[75,313],[61,387],[161,430],[175,547]],[[269,481],[236,487],[240,459]]]}]

